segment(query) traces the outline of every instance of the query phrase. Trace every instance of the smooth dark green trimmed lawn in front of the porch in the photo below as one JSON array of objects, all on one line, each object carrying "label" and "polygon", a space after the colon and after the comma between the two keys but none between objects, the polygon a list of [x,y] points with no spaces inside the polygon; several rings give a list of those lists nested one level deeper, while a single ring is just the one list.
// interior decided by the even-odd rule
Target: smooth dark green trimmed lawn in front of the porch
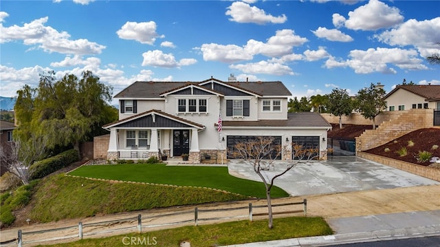
[{"label": "smooth dark green trimmed lawn in front of the porch", "polygon": [[[83,166],[72,171],[69,175],[153,184],[200,186],[251,197],[266,197],[265,187],[262,182],[244,180],[229,175],[228,167],[167,167],[165,164],[112,164]],[[272,197],[289,196],[287,192],[276,186],[272,188],[271,195]]]}]

